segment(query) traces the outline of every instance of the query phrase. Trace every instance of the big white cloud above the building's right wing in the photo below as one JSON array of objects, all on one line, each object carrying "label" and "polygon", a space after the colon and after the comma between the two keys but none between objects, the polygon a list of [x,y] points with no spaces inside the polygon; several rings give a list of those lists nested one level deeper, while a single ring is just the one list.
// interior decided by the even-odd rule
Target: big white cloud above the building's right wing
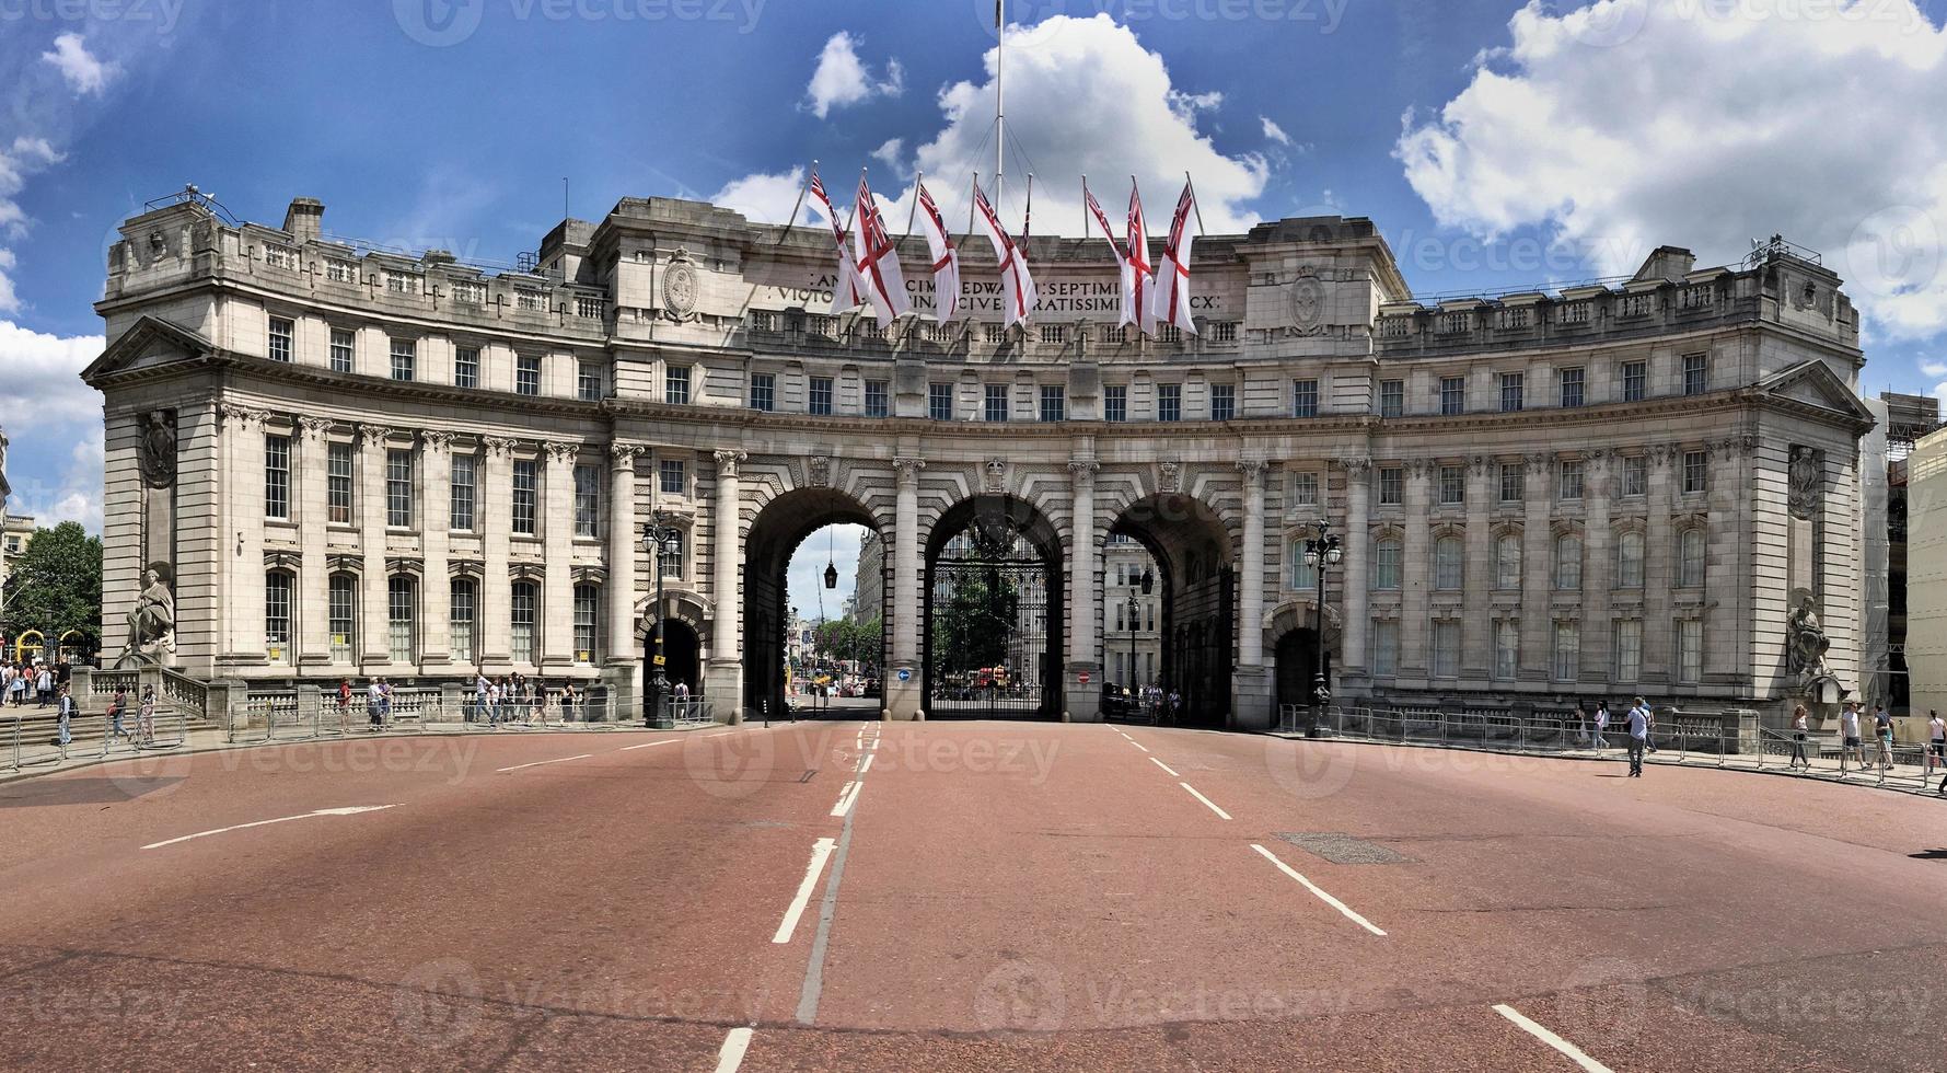
[{"label": "big white cloud above the building's right wing", "polygon": [[1947,35],[1912,0],[1530,0],[1394,154],[1445,226],[1540,226],[1604,273],[1659,243],[1818,249],[1891,337],[1947,329]]}]

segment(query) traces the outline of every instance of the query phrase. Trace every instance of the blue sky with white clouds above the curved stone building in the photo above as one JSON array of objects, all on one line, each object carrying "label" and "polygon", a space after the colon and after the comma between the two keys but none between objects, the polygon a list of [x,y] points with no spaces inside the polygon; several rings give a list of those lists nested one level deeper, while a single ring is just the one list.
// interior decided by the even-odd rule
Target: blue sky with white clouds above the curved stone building
[{"label": "blue sky with white clouds above the curved stone building", "polygon": [[[1036,230],[1075,232],[1079,173],[1114,212],[1133,171],[1155,228],[1194,167],[1213,230],[1371,216],[1423,294],[1783,232],[1854,280],[1867,391],[1947,391],[1947,144],[1914,127],[1947,113],[1939,6],[1016,0],[1009,203],[1032,167]],[[327,232],[510,263],[563,177],[582,218],[629,195],[783,216],[812,158],[835,195],[925,167],[944,203],[991,169],[991,0],[72,8],[0,4],[0,426],[12,508],[45,518],[99,518],[90,304],[115,226],[185,181],[241,218],[308,195]]]}]

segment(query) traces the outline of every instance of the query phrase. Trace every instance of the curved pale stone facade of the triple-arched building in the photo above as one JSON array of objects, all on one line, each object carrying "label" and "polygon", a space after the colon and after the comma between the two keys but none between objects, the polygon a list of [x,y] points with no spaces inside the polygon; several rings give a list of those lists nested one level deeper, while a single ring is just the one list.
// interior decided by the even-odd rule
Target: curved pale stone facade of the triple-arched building
[{"label": "curved pale stone facade of the triple-arched building", "polygon": [[[1289,557],[1322,518],[1345,534],[1340,699],[1762,707],[1857,682],[1857,315],[1785,243],[1423,304],[1369,220],[1279,220],[1197,241],[1195,337],[1135,339],[1100,241],[1030,243],[1026,331],[972,247],[966,317],[880,331],[820,314],[829,234],[709,204],[629,199],[502,273],[335,243],[321,214],[232,226],[189,199],[111,249],[84,374],[107,397],[111,652],[160,567],[195,676],[631,693],[656,510],[685,536],[660,569],[705,691],[755,711],[789,551],[857,522],[909,719],[929,559],[995,516],[1055,573],[1059,713],[1098,713],[1114,534],[1160,567],[1164,678],[1248,728],[1306,699],[1275,662],[1314,648]],[[1813,670],[1785,645],[1797,590],[1830,645]]]}]

